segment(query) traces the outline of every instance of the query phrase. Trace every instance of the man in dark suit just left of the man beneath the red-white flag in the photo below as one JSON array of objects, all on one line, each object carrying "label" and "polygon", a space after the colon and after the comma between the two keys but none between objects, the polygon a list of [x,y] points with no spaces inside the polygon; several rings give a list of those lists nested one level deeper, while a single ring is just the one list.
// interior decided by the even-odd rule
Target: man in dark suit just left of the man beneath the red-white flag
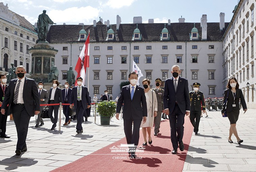
[{"label": "man in dark suit just left of the man beneath the red-white flag", "polygon": [[[65,82],[65,88],[61,90],[62,92],[62,102],[70,104],[70,95],[71,95],[71,88],[69,87],[69,83]],[[66,117],[65,123],[63,125],[70,124],[70,117],[69,117],[69,106],[64,105],[63,106],[63,113]]]}]

